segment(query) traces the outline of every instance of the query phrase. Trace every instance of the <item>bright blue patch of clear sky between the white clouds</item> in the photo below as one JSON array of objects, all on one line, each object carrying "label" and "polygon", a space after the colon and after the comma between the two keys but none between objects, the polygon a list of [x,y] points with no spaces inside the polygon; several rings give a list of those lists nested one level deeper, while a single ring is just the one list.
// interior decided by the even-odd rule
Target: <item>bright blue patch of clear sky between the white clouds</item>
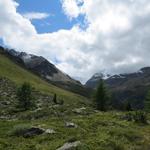
[{"label": "bright blue patch of clear sky between the white clouds", "polygon": [[[16,0],[20,5],[17,11],[21,14],[29,12],[47,13],[50,16],[45,19],[32,20],[38,33],[57,32],[59,29],[71,29],[74,24],[83,21],[80,16],[69,20],[63,13],[60,0]],[[36,4],[35,4],[36,3]]]}]

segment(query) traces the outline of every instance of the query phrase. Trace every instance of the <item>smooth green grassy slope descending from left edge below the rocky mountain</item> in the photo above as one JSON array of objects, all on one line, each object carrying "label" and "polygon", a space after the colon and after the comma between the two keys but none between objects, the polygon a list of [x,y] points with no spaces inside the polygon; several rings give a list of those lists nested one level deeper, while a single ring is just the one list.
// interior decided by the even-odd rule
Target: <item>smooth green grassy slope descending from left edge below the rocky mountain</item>
[{"label": "smooth green grassy slope descending from left edge below the rocky mountain", "polygon": [[66,100],[84,100],[85,98],[74,93],[65,91],[58,87],[55,87],[39,77],[33,75],[27,70],[19,67],[15,63],[13,63],[10,59],[8,59],[3,54],[0,54],[0,76],[6,77],[16,84],[21,84],[23,82],[30,82],[33,87],[35,87],[38,91],[41,91],[45,94],[53,95],[57,93],[60,97]]}]

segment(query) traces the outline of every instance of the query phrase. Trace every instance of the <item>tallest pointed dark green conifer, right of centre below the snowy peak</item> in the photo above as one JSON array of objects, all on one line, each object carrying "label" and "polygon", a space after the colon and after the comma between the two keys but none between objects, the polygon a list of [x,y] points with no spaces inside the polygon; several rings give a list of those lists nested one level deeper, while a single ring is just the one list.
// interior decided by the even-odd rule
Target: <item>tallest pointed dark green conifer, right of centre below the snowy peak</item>
[{"label": "tallest pointed dark green conifer, right of centre below the snowy peak", "polygon": [[95,94],[95,102],[97,109],[100,111],[106,111],[107,100],[108,94],[104,82],[101,79]]}]

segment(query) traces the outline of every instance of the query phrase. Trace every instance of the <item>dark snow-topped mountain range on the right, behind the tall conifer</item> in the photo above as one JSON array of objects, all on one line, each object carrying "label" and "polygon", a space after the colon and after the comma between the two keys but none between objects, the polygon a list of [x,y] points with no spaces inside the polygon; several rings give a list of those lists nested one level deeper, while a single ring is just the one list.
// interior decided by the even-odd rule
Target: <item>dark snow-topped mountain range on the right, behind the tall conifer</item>
[{"label": "dark snow-topped mountain range on the right, behind the tall conifer", "polygon": [[[102,76],[93,76],[86,82],[86,86],[96,88]],[[120,102],[130,100],[133,107],[142,108],[143,100],[150,89],[150,67],[145,67],[137,72],[129,74],[118,74],[104,78],[104,82],[116,105]]]}]

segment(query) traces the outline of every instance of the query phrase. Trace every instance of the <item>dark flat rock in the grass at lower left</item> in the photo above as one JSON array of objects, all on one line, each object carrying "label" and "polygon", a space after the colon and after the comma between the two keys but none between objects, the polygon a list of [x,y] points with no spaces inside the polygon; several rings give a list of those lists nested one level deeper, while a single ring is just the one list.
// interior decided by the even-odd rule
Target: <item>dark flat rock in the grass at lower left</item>
[{"label": "dark flat rock in the grass at lower left", "polygon": [[43,134],[44,132],[45,131],[42,128],[32,127],[30,129],[27,129],[24,132],[23,137],[28,138],[28,137],[32,137],[32,136]]}]

